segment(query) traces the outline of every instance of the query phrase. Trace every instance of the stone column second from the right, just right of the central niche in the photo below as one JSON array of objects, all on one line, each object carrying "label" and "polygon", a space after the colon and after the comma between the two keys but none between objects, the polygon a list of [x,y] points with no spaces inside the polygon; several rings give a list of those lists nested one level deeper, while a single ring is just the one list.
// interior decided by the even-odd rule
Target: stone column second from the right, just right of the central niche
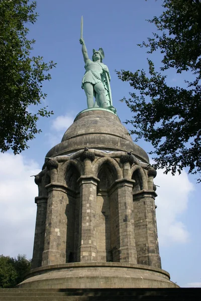
[{"label": "stone column second from the right, just right of the central niche", "polygon": [[137,263],[132,195],[135,181],[123,178],[115,183],[119,204],[120,262]]}]

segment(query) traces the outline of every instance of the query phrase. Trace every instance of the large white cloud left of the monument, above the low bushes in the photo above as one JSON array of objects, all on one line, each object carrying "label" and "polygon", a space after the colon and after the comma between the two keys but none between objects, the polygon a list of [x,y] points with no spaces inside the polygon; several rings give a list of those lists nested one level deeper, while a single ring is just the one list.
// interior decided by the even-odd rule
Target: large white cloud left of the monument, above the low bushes
[{"label": "large white cloud left of the monument, above the low bushes", "polygon": [[0,154],[0,254],[32,257],[38,188],[31,175],[40,172],[23,155]]}]

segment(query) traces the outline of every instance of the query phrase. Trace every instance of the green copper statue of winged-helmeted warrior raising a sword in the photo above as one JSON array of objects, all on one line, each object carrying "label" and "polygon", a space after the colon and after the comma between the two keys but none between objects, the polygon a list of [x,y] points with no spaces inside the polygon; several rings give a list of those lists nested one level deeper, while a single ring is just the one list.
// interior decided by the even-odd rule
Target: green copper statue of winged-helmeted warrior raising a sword
[{"label": "green copper statue of winged-helmeted warrior raising a sword", "polygon": [[[85,62],[85,74],[82,79],[82,89],[84,89],[88,108],[105,108],[116,113],[112,105],[112,93],[110,88],[110,72],[108,66],[103,64],[105,57],[103,48],[97,51],[93,49],[92,60],[88,58],[87,49],[83,40],[83,18],[81,18],[81,38],[82,54]],[[95,97],[95,103],[93,102]]]}]

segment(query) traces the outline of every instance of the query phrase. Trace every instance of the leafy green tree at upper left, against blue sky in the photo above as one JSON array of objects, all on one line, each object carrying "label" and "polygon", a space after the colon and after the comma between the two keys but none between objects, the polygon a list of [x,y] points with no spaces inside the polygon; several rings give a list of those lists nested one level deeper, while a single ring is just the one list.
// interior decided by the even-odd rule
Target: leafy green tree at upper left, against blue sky
[{"label": "leafy green tree at upper left, against blue sky", "polygon": [[1,0],[0,2],[0,149],[12,149],[14,154],[28,148],[27,142],[41,132],[37,128],[40,116],[50,116],[47,107],[30,112],[30,105],[40,105],[46,97],[44,80],[55,64],[43,57],[31,57],[35,40],[28,40],[28,24],[37,20],[36,2]]}]

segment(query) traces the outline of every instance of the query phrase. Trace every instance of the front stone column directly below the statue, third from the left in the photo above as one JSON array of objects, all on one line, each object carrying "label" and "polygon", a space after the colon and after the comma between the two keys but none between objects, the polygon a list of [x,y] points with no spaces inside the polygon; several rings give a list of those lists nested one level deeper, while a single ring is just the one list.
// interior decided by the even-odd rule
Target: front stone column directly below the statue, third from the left
[{"label": "front stone column directly below the statue, third from the left", "polygon": [[96,261],[96,189],[99,179],[93,176],[81,176],[79,207],[79,247],[78,261]]}]

